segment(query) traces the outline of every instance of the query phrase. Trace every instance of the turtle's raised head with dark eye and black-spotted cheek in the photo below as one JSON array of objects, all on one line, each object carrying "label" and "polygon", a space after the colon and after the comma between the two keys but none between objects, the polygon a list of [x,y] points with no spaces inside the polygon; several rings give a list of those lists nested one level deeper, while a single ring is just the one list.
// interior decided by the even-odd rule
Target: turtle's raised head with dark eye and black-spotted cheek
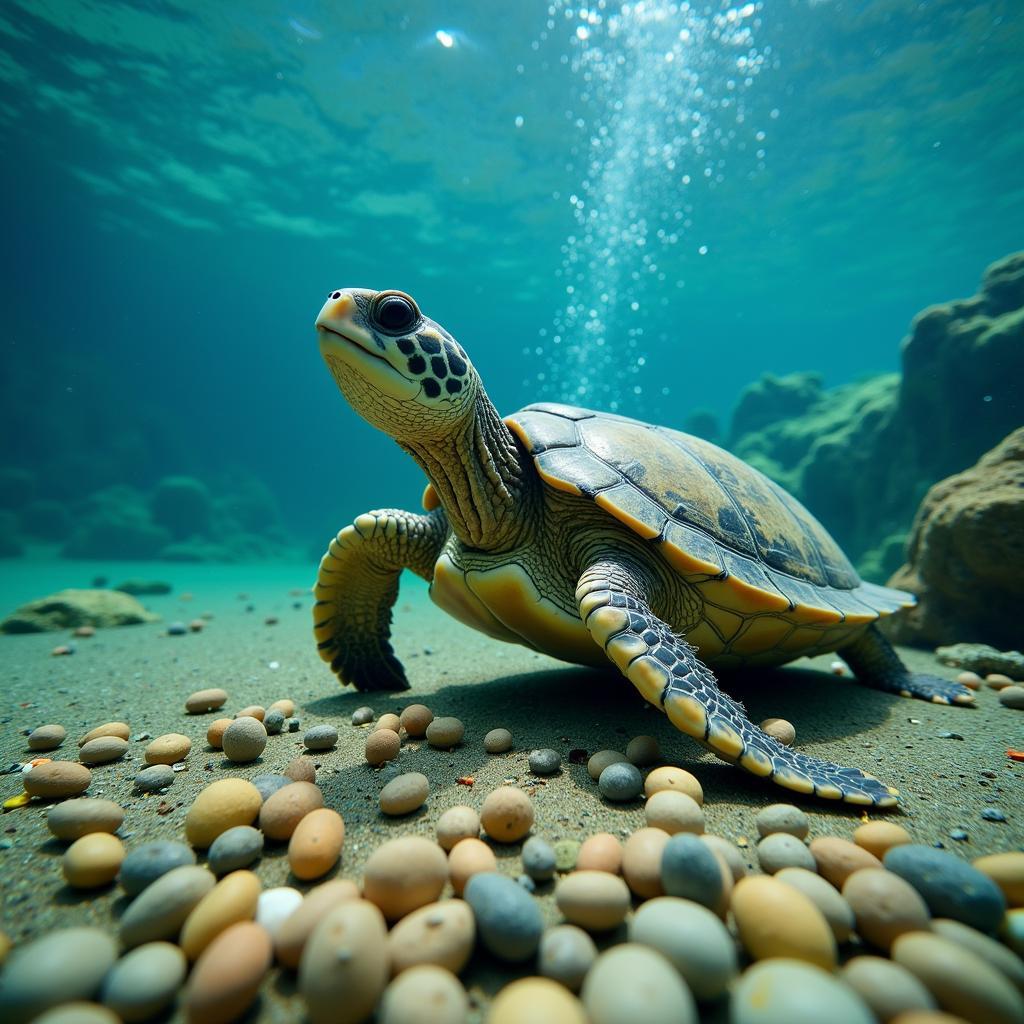
[{"label": "turtle's raised head with dark eye and black-spotted cheek", "polygon": [[349,404],[397,440],[446,435],[472,415],[476,371],[404,292],[338,289],[316,317],[316,335]]}]

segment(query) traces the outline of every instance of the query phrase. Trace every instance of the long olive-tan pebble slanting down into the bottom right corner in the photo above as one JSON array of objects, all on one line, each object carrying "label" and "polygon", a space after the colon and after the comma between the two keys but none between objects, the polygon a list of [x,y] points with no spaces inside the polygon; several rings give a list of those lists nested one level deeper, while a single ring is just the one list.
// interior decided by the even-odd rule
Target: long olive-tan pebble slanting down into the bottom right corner
[{"label": "long olive-tan pebble slanting down into the bottom right corner", "polygon": [[947,1013],[972,1024],[1020,1024],[1022,995],[999,971],[971,950],[927,932],[901,935],[892,958],[924,982]]}]

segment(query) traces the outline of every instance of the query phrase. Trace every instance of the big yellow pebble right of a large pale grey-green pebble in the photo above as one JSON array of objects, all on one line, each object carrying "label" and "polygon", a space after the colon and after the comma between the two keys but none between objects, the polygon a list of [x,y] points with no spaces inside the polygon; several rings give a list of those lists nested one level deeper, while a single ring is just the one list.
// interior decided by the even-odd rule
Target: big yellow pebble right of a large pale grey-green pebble
[{"label": "big yellow pebble right of a large pale grey-green pebble", "polygon": [[821,911],[791,886],[749,876],[732,890],[739,940],[754,959],[792,957],[831,971],[836,939]]}]

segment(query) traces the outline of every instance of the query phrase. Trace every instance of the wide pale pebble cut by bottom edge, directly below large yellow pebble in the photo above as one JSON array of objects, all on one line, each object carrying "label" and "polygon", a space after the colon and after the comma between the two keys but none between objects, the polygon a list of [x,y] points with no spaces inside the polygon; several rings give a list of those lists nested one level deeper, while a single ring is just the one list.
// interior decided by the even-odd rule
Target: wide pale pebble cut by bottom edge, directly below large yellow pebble
[{"label": "wide pale pebble cut by bottom edge, directly below large yellow pebble", "polygon": [[876,1024],[863,1000],[830,972],[799,959],[755,964],[729,999],[729,1024]]}]

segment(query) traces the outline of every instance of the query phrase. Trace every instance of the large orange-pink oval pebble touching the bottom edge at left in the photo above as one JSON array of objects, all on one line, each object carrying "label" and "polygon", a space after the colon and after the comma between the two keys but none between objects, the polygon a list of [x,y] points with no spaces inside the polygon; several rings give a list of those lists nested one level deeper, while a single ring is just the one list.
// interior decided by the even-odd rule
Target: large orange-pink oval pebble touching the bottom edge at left
[{"label": "large orange-pink oval pebble touching the bottom edge at left", "polygon": [[227,1024],[252,1005],[273,958],[270,936],[253,921],[221,932],[203,950],[184,990],[189,1024]]}]

